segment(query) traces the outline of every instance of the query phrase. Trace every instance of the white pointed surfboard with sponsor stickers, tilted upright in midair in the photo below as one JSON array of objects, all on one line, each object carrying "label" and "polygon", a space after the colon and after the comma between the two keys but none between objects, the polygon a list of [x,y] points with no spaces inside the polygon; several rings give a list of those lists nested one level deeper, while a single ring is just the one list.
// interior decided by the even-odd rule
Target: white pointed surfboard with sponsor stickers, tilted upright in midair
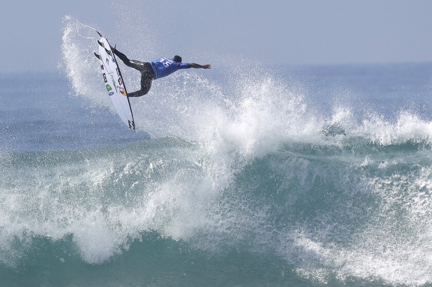
[{"label": "white pointed surfboard with sponsor stickers, tilted upright in midair", "polygon": [[131,103],[129,102],[128,93],[124,86],[123,77],[117,64],[116,57],[111,50],[108,41],[101,37],[99,43],[99,55],[96,57],[100,60],[102,70],[103,85],[106,93],[113,102],[114,109],[120,116],[121,120],[135,131],[134,116],[132,114]]}]

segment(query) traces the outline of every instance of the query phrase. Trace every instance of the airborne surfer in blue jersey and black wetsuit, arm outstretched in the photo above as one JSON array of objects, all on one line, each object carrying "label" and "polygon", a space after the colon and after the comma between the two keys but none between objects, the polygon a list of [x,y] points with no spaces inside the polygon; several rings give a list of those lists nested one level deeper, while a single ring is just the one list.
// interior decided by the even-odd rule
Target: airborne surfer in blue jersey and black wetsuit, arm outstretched
[{"label": "airborne surfer in blue jersey and black wetsuit, arm outstretched", "polygon": [[123,61],[128,67],[139,70],[141,73],[141,89],[136,92],[129,93],[128,97],[141,97],[146,95],[152,85],[152,81],[155,79],[166,77],[174,73],[178,69],[188,69],[188,68],[211,68],[210,64],[200,65],[196,63],[182,63],[182,57],[174,56],[174,58],[159,58],[152,62],[140,62],[137,60],[129,60],[126,55],[118,51],[115,47],[111,46],[111,50],[115,55]]}]

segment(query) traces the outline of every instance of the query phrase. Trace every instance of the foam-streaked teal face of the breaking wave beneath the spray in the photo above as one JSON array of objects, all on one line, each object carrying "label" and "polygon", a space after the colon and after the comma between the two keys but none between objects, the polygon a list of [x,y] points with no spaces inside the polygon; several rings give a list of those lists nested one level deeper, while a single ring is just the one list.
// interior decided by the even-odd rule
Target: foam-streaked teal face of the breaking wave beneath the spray
[{"label": "foam-streaked teal face of the breaking wave beneath the spray", "polygon": [[176,137],[10,153],[1,165],[3,268],[116,262],[130,248],[147,266],[174,244],[168,258],[276,261],[267,271],[280,283],[283,272],[321,283],[429,283],[430,146],[340,137],[282,142],[247,159],[230,150],[214,160]]}]

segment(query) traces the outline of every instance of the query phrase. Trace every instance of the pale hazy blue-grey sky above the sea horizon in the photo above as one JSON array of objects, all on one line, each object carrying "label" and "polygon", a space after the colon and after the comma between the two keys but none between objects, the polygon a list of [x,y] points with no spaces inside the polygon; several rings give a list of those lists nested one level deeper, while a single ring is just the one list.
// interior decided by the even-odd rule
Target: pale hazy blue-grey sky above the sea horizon
[{"label": "pale hazy blue-grey sky above the sea horizon", "polygon": [[432,62],[429,0],[14,0],[0,13],[0,73],[56,70],[65,15],[98,28],[131,18],[128,29],[145,26],[163,43],[160,57],[177,47],[209,62],[215,53],[289,65]]}]

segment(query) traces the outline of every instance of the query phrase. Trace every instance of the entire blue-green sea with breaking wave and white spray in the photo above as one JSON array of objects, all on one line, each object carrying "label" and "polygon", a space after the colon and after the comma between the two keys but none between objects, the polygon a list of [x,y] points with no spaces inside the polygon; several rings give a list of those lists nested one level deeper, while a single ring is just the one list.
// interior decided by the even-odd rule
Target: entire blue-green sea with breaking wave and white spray
[{"label": "entire blue-green sea with breaking wave and white spray", "polygon": [[134,133],[74,25],[0,75],[0,286],[432,286],[432,63],[211,63]]}]

